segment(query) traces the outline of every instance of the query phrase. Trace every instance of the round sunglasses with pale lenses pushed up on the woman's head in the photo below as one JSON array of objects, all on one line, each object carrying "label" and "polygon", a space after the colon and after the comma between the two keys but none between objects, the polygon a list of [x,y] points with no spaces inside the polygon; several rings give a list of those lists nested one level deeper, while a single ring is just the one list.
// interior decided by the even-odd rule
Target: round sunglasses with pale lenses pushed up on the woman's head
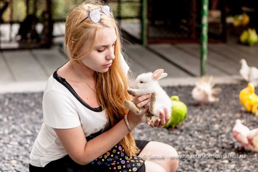
[{"label": "round sunglasses with pale lenses pushed up on the woman's head", "polygon": [[101,16],[100,12],[102,12],[105,15],[111,17],[110,7],[105,5],[105,6],[102,6],[101,9],[93,9],[93,10],[91,10],[89,12],[88,17],[83,19],[81,22],[83,22],[87,18],[90,18],[93,23],[98,23],[100,21],[100,16]]}]

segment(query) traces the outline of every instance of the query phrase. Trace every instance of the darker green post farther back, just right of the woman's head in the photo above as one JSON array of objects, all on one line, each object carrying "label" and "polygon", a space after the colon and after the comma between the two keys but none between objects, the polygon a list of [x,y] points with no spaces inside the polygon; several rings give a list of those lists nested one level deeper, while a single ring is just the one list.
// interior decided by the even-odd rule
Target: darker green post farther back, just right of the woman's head
[{"label": "darker green post farther back, just right of the woman's head", "polygon": [[147,45],[147,0],[142,0],[142,45]]}]

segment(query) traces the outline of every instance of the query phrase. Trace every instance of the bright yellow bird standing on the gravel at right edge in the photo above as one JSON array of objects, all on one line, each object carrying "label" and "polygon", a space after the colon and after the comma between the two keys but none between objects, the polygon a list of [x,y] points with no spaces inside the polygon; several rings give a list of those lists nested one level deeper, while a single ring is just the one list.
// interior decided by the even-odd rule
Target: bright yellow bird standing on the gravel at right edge
[{"label": "bright yellow bird standing on the gravel at right edge", "polygon": [[240,91],[239,99],[241,104],[247,109],[247,112],[252,112],[258,116],[258,96],[254,91],[253,83],[248,83],[247,87]]}]

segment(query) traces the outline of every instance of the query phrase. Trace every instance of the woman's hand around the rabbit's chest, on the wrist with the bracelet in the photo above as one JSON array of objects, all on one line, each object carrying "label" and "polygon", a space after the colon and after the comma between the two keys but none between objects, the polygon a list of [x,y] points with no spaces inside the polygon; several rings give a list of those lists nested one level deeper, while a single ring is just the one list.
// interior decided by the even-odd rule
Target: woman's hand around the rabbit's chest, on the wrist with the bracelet
[{"label": "woman's hand around the rabbit's chest, on the wrist with the bracelet", "polygon": [[[146,94],[146,95],[134,97],[134,99],[132,100],[132,103],[134,103],[136,107],[140,109],[150,102],[150,96],[151,94]],[[140,115],[137,115],[131,110],[129,110],[127,114],[129,124],[133,126],[137,126],[138,124],[145,122],[145,121],[142,121],[142,115],[144,115],[147,111],[148,111],[148,107],[143,109]]]}]

